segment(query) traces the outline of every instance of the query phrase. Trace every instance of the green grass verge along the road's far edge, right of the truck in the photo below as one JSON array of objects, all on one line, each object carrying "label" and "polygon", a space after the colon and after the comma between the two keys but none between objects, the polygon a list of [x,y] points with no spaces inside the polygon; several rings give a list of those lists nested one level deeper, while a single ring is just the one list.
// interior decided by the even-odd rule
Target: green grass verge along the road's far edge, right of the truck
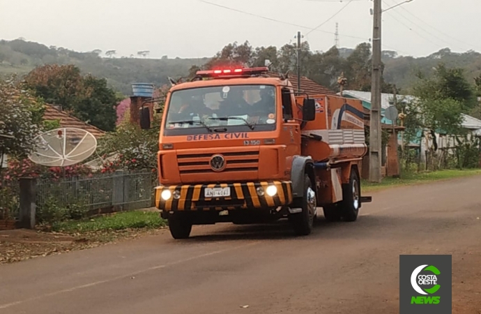
[{"label": "green grass verge along the road's far edge, right of the truck", "polygon": [[393,188],[396,186],[410,186],[413,184],[422,184],[433,181],[455,179],[459,177],[468,177],[476,174],[481,174],[481,169],[439,170],[435,172],[406,173],[403,174],[402,177],[399,179],[386,177],[380,184],[373,184],[368,181],[362,181],[362,191],[372,192],[374,190],[382,190],[384,188]]}]

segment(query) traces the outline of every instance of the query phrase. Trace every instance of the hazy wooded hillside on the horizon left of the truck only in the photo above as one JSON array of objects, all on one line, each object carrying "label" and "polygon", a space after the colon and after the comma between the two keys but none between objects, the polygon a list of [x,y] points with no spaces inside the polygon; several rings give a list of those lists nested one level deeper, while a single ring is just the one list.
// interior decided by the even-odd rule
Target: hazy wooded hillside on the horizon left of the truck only
[{"label": "hazy wooded hillside on the horizon left of the truck only", "polygon": [[58,47],[47,47],[24,40],[0,41],[0,75],[24,75],[36,66],[48,63],[74,64],[83,73],[106,77],[114,89],[131,94],[132,82],[148,82],[160,87],[167,77],[181,77],[191,66],[200,66],[204,59],[144,59],[102,58],[98,52],[75,52]]}]

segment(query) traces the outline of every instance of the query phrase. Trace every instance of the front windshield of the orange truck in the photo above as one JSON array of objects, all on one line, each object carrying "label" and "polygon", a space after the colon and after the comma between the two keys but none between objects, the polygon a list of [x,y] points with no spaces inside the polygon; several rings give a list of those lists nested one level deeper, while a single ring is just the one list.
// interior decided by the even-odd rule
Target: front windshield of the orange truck
[{"label": "front windshield of the orange truck", "polygon": [[232,85],[171,94],[165,135],[275,130],[275,87]]}]

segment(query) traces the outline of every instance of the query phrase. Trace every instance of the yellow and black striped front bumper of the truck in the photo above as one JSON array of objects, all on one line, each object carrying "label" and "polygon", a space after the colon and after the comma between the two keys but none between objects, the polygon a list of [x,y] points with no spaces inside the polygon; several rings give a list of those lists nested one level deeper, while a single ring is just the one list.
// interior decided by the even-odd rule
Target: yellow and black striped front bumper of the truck
[{"label": "yellow and black striped front bumper of the truck", "polygon": [[[277,188],[277,194],[270,197],[266,193],[260,196],[257,188],[264,190],[269,185]],[[231,189],[230,197],[206,198],[204,190],[206,188],[227,188]],[[162,190],[170,190],[172,194],[178,191],[178,199],[171,197],[163,200]],[[272,181],[272,182],[247,182],[236,184],[199,184],[185,186],[158,186],[155,188],[155,206],[162,211],[210,211],[225,209],[268,209],[280,207],[292,202],[292,183],[291,181]]]}]

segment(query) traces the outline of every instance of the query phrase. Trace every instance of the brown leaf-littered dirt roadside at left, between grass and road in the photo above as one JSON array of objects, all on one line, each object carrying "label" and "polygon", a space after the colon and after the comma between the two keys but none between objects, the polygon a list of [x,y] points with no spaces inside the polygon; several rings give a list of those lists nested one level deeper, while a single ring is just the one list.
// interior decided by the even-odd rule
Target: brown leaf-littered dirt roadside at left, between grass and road
[{"label": "brown leaf-littered dirt roadside at left, between grass and road", "polygon": [[121,230],[86,234],[61,234],[24,229],[0,231],[0,264],[94,248],[156,232],[160,230]]}]

